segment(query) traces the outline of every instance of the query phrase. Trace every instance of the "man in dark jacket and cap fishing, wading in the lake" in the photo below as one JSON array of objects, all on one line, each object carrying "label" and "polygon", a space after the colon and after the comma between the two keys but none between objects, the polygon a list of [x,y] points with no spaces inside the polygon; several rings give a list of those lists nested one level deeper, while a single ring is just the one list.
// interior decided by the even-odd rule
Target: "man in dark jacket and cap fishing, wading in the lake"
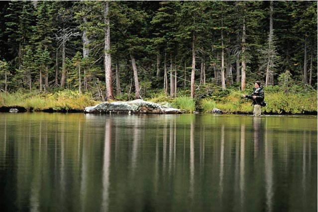
[{"label": "man in dark jacket and cap fishing, wading in the lake", "polygon": [[264,101],[265,94],[260,81],[256,81],[254,86],[255,88],[253,88],[251,95],[243,94],[242,97],[253,100],[253,115],[260,116],[262,113],[261,103]]}]

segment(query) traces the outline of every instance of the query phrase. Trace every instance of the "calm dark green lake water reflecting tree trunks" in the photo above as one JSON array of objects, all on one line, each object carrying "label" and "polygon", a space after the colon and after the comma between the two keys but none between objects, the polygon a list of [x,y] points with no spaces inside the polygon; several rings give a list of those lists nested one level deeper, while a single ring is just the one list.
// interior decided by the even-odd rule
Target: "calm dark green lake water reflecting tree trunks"
[{"label": "calm dark green lake water reflecting tree trunks", "polygon": [[317,116],[0,113],[1,211],[317,211]]}]

